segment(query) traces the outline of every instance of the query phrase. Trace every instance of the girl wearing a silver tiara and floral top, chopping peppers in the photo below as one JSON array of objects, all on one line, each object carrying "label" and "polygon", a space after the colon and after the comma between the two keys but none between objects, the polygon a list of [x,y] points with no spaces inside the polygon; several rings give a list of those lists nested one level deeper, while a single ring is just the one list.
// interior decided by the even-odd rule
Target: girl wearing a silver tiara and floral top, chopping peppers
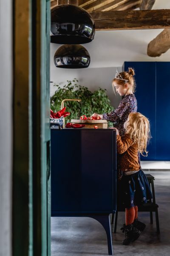
[{"label": "girl wearing a silver tiara and floral top, chopping peppers", "polygon": [[128,68],[127,72],[119,73],[118,70],[116,70],[112,86],[120,96],[123,96],[118,108],[111,113],[103,113],[102,115],[94,113],[92,115],[94,117],[100,116],[101,119],[114,122],[114,127],[119,130],[121,136],[125,134],[123,124],[127,120],[128,114],[137,111],[137,101],[133,94],[136,88],[134,75],[134,70],[131,67]]}]

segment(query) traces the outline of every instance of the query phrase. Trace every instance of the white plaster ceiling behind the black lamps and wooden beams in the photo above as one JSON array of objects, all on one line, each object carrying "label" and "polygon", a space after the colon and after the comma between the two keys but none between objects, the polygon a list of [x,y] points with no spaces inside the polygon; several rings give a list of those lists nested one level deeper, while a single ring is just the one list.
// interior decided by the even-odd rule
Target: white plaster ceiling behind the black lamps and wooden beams
[{"label": "white plaster ceiling behind the black lamps and wooden beams", "polygon": [[[156,0],[153,9],[170,9],[170,0]],[[160,57],[149,57],[147,45],[163,29],[96,31],[94,41],[83,46],[91,56],[89,68],[120,67],[124,61],[170,61],[170,50]],[[51,68],[55,69],[53,56],[60,45],[51,44]]]}]

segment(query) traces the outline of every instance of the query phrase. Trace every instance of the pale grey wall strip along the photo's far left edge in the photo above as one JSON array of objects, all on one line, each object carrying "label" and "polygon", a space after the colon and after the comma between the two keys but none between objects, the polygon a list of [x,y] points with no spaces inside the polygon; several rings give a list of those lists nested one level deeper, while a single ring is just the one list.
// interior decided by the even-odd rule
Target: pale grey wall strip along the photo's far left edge
[{"label": "pale grey wall strip along the photo's far left edge", "polygon": [[0,256],[11,256],[12,0],[0,1]]}]

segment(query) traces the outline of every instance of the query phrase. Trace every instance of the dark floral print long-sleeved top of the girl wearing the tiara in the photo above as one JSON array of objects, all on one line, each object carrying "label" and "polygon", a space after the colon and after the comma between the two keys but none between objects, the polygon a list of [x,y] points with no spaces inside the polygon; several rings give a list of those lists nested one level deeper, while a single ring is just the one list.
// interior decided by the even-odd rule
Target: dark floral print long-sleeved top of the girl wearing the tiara
[{"label": "dark floral print long-sleeved top of the girl wearing the tiara", "polygon": [[103,114],[103,119],[106,119],[110,122],[116,122],[114,127],[119,130],[120,136],[124,136],[125,129],[123,124],[131,112],[137,112],[137,101],[134,94],[127,94],[123,97],[115,111]]}]

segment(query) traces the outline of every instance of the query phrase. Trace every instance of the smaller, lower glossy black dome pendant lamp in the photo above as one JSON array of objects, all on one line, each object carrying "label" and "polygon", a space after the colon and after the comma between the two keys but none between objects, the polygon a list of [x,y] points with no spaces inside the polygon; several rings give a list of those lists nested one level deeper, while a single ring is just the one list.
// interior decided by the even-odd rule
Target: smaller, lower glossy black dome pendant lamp
[{"label": "smaller, lower glossy black dome pendant lamp", "polygon": [[85,68],[90,64],[90,55],[82,45],[65,44],[55,52],[54,63],[61,68]]}]

